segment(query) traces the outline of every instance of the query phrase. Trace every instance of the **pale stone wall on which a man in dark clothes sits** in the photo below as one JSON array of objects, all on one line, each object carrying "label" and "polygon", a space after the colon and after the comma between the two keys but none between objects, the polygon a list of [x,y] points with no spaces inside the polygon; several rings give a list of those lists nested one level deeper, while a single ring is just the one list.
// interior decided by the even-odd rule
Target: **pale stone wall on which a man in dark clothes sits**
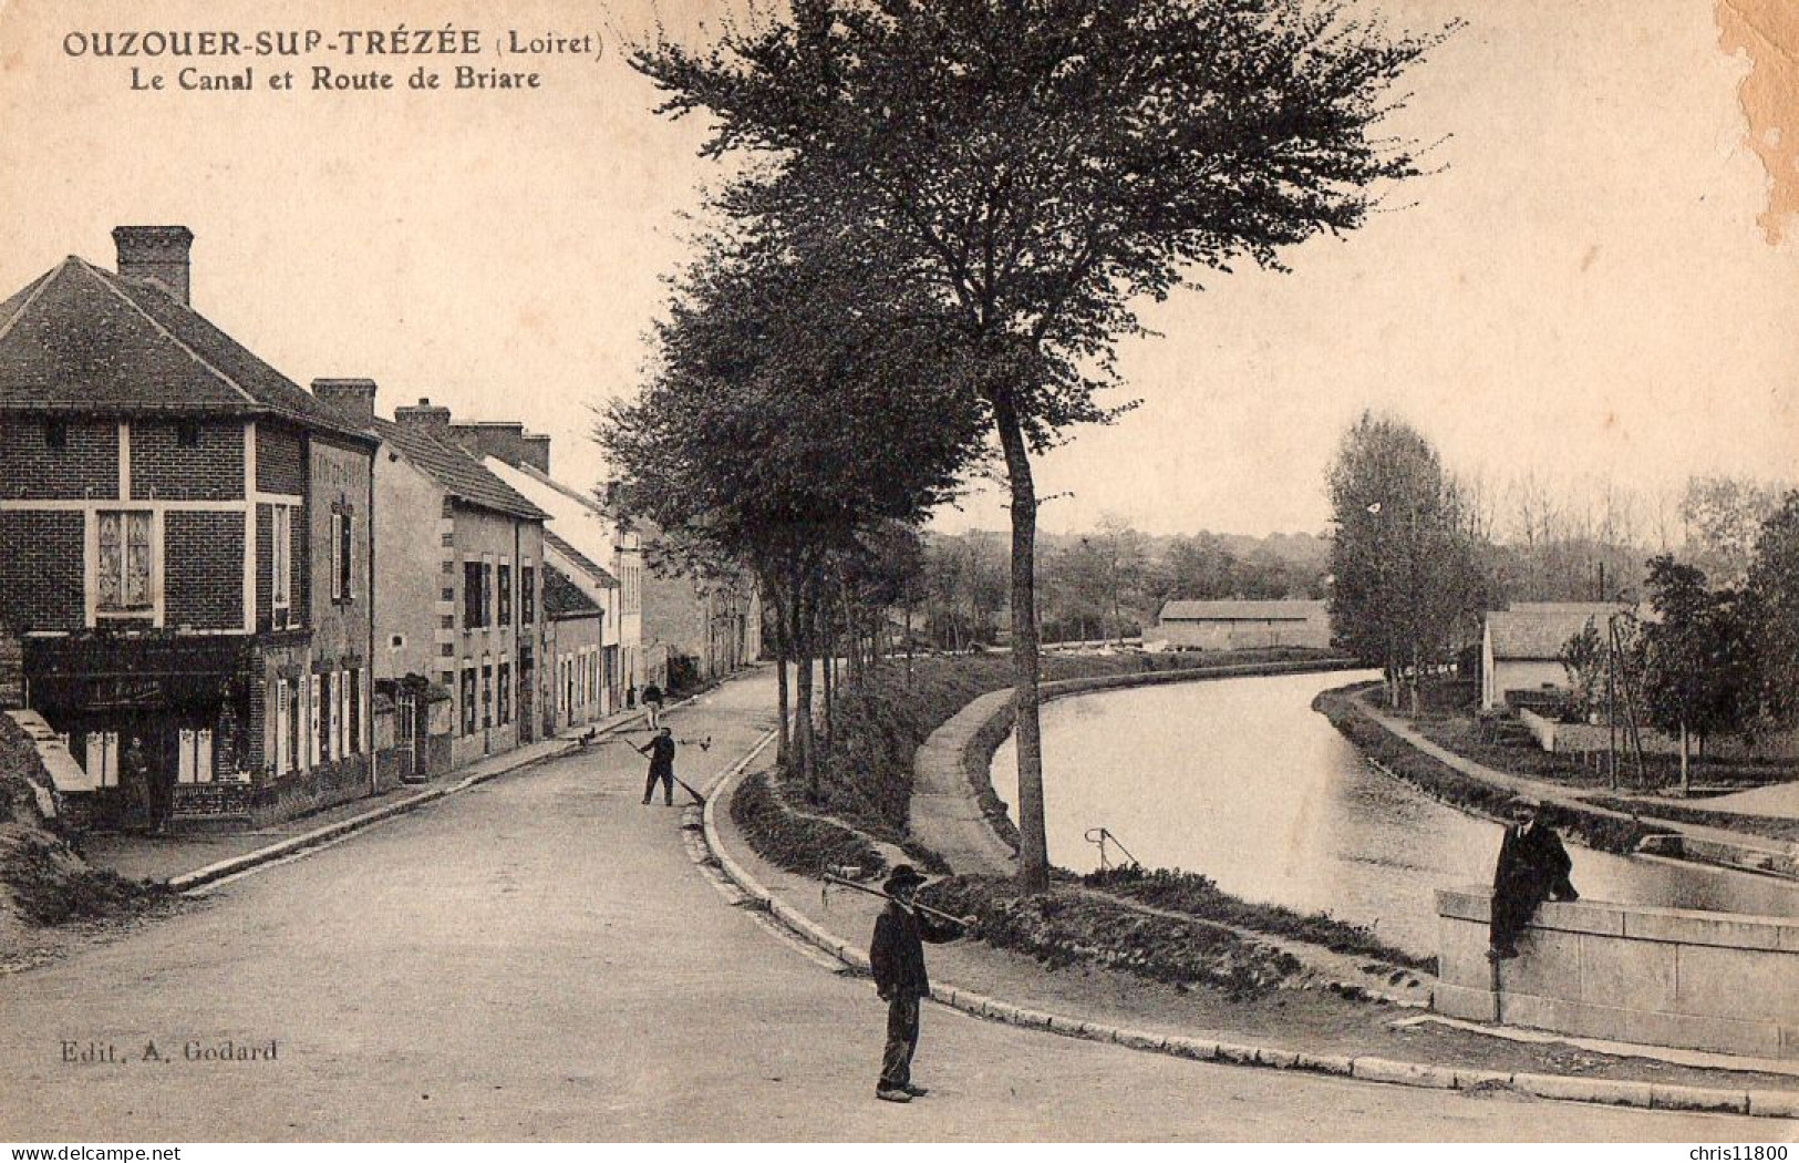
[{"label": "pale stone wall on which a man in dark clothes sits", "polygon": [[1509,1026],[1799,1059],[1799,918],[1544,904],[1488,961],[1491,891],[1439,889],[1432,1008]]}]

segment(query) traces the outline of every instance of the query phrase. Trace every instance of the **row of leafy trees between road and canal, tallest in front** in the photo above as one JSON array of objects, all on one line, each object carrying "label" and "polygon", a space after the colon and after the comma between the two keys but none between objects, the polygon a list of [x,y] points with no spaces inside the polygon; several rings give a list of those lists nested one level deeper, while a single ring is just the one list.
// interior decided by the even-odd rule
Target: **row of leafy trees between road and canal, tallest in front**
[{"label": "row of leafy trees between road and canal, tallest in front", "polygon": [[711,119],[723,185],[660,369],[603,423],[619,499],[754,572],[804,663],[833,571],[997,446],[1027,891],[1049,884],[1031,457],[1117,414],[1099,396],[1144,301],[1281,268],[1419,171],[1380,122],[1437,40],[1297,0],[797,0],[633,49],[666,113]]}]

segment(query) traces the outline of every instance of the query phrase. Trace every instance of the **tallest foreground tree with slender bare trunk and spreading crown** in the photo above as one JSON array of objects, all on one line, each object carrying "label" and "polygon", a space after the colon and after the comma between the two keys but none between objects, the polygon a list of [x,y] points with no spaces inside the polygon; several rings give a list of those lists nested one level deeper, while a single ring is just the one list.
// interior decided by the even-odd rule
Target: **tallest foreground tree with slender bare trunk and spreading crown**
[{"label": "tallest foreground tree with slender bare trunk and spreading crown", "polygon": [[1193,268],[1362,223],[1418,173],[1378,122],[1437,38],[1299,0],[799,0],[792,18],[633,54],[745,218],[858,239],[948,315],[1011,490],[1020,884],[1049,886],[1031,454],[1112,412],[1137,306]]}]

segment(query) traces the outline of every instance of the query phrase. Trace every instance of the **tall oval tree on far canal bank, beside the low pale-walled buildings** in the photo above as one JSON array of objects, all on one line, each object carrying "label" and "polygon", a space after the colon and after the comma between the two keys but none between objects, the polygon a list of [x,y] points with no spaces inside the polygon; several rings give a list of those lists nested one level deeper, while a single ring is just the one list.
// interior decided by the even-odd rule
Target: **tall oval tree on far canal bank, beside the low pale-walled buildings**
[{"label": "tall oval tree on far canal bank, beside the low pale-walled buildings", "polygon": [[1486,605],[1459,493],[1410,425],[1364,412],[1329,473],[1331,630],[1382,668],[1389,704],[1425,664],[1454,657]]}]

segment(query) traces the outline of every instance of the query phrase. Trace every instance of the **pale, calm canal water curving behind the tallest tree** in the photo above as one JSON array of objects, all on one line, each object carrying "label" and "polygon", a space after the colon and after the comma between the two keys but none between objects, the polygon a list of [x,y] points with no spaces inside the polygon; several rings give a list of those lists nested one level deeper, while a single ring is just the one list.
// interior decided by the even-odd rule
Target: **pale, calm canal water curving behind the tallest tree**
[{"label": "pale, calm canal water curving behind the tallest tree", "polygon": [[[1491,884],[1500,826],[1373,771],[1311,709],[1373,673],[1177,682],[1043,706],[1049,859],[1090,871],[1105,826],[1146,868],[1204,873],[1232,895],[1329,913],[1423,956],[1437,888]],[[993,790],[1018,801],[1013,740]],[[1594,900],[1799,916],[1799,886],[1569,844]],[[1117,853],[1114,852],[1114,859]]]}]

